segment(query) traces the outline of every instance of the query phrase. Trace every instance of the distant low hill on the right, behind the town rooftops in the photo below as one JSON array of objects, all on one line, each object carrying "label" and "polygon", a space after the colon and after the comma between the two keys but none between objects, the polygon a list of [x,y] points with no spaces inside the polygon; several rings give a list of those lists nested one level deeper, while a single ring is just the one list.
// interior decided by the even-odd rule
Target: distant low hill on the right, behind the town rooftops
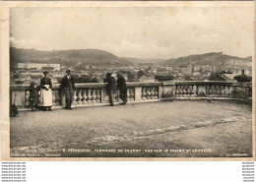
[{"label": "distant low hill on the right, behind the town rooftops", "polygon": [[[225,55],[222,52],[211,52],[206,54],[190,55],[186,57],[172,58],[161,62],[163,66],[186,66],[189,63],[201,66],[229,66],[230,64],[251,66],[252,57],[240,58]],[[233,65],[232,65],[233,66]]]}]

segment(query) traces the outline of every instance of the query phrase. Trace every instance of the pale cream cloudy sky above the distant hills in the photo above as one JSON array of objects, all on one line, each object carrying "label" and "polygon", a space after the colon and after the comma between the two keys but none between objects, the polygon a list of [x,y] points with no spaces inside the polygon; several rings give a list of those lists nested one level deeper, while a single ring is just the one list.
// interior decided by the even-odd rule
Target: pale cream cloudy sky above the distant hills
[{"label": "pale cream cloudy sky above the distant hills", "polygon": [[12,8],[10,44],[145,59],[207,52],[247,57],[253,51],[253,18],[248,7]]}]

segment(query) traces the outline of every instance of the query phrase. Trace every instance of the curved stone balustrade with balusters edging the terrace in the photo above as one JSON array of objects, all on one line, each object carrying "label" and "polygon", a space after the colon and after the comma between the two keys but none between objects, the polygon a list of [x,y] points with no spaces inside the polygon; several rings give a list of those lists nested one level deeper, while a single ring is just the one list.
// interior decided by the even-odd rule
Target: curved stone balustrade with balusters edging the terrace
[{"label": "curved stone balustrade with balusters edging the terrace", "polygon": [[[65,106],[65,95],[59,90],[60,85],[53,85],[53,106]],[[179,81],[179,82],[153,82],[153,83],[127,83],[128,102],[158,101],[161,99],[187,99],[187,98],[241,98],[251,97],[251,83],[228,83],[215,81]],[[18,107],[30,107],[29,86],[11,86],[11,103]],[[114,101],[120,102],[119,92],[114,92]],[[76,84],[73,95],[74,106],[90,104],[107,104],[108,95],[105,84]]]}]

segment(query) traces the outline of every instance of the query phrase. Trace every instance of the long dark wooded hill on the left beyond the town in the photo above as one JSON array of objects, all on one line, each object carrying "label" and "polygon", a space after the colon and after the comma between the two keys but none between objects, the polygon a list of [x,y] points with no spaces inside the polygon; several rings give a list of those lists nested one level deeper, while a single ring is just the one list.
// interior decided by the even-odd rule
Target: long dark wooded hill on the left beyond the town
[{"label": "long dark wooded hill on the left beyond the town", "polygon": [[129,66],[133,63],[109,52],[96,49],[39,51],[34,49],[10,48],[11,64],[57,63],[63,65],[86,64],[92,66]]}]

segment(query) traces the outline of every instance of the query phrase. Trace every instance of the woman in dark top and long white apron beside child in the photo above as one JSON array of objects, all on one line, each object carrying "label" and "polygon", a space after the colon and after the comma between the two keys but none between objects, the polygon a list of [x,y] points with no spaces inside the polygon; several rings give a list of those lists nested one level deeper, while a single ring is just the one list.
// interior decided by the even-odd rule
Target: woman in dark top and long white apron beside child
[{"label": "woman in dark top and long white apron beside child", "polygon": [[43,78],[40,80],[40,106],[42,110],[47,108],[51,111],[52,107],[52,83],[48,78],[48,72],[43,72]]}]

